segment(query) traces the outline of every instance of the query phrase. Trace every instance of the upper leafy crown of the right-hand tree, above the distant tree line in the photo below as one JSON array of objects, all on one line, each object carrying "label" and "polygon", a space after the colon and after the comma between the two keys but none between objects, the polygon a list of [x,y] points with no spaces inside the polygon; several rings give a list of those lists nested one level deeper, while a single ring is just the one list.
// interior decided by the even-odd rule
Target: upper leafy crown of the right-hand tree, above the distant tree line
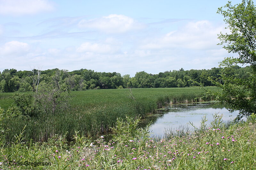
[{"label": "upper leafy crown of the right-hand tree, above the distant tree line", "polygon": [[[226,10],[225,10],[226,9]],[[239,63],[256,65],[256,8],[251,0],[243,0],[241,4],[231,5],[228,2],[218,9],[228,24],[228,32],[220,33],[220,45],[228,52],[237,53]]]}]

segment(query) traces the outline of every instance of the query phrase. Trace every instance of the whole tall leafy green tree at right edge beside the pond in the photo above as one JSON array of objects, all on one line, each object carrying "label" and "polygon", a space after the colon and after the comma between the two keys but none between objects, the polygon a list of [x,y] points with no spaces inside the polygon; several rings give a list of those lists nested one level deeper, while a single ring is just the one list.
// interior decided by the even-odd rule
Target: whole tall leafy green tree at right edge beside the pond
[{"label": "whole tall leafy green tree at right edge beside the pond", "polygon": [[[213,81],[222,88],[216,92],[217,99],[228,103],[230,111],[239,110],[237,118],[256,113],[256,8],[251,0],[242,0],[241,4],[228,2],[218,9],[228,25],[229,33],[220,33],[220,45],[229,53],[238,54],[228,57],[220,63],[223,66],[220,76],[223,82]],[[230,74],[230,68],[238,63],[251,65],[249,77],[240,78]]]}]

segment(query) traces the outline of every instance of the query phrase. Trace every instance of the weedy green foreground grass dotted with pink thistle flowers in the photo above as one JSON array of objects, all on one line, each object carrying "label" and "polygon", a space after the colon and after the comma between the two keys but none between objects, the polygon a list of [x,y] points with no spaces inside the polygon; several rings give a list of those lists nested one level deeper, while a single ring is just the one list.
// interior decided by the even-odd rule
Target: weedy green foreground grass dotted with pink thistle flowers
[{"label": "weedy green foreground grass dotted with pink thistle flowers", "polygon": [[58,135],[48,142],[25,144],[20,134],[15,144],[2,145],[0,159],[51,163],[11,169],[256,169],[255,118],[228,126],[216,119],[188,136],[159,140],[150,138],[147,129],[137,129],[139,120],[132,118],[117,120],[111,141],[101,137],[90,141],[76,134],[71,144]]}]

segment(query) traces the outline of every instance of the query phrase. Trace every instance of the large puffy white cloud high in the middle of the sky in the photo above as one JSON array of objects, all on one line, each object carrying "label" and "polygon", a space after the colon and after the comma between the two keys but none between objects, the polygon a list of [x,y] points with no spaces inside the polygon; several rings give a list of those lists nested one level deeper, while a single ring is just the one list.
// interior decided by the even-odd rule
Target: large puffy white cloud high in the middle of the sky
[{"label": "large puffy white cloud high in the middle of the sky", "polygon": [[81,20],[78,24],[81,28],[97,29],[106,33],[125,33],[145,27],[144,24],[135,21],[125,15],[111,14],[92,20]]}]

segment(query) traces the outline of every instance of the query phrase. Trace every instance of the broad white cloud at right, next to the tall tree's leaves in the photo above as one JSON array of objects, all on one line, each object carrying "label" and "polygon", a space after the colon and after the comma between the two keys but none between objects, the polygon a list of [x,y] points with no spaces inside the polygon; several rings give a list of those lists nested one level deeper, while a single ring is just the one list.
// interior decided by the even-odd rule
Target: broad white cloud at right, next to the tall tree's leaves
[{"label": "broad white cloud at right, next to the tall tree's leaves", "polygon": [[213,26],[207,20],[189,22],[185,27],[155,39],[142,41],[142,49],[187,48],[206,50],[218,48],[217,34],[224,31],[224,26]]}]

